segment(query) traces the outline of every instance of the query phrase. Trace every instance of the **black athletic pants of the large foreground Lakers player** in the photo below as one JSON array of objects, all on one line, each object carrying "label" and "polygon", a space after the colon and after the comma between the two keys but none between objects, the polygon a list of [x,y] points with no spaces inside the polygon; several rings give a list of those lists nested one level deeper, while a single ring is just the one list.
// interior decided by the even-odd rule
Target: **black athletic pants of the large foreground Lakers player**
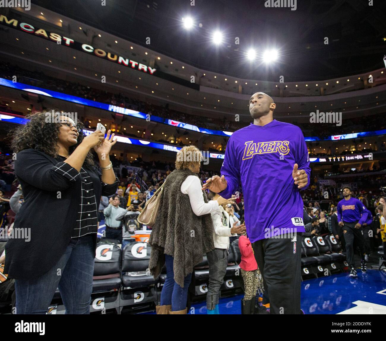
[{"label": "black athletic pants of the large foreground Lakers player", "polygon": [[252,249],[271,314],[300,314],[301,233],[296,233],[296,242],[268,238],[252,243]]}]

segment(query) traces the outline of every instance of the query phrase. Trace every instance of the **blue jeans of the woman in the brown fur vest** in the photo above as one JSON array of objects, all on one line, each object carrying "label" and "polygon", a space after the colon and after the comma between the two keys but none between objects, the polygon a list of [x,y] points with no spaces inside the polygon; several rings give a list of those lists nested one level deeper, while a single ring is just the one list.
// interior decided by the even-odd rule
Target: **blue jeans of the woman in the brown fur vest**
[{"label": "blue jeans of the woman in the brown fur vest", "polygon": [[165,255],[166,262],[166,280],[161,291],[161,306],[171,304],[171,311],[180,311],[186,308],[186,300],[188,299],[188,289],[192,278],[192,274],[184,278],[184,287],[181,288],[174,281],[173,272],[173,257]]}]

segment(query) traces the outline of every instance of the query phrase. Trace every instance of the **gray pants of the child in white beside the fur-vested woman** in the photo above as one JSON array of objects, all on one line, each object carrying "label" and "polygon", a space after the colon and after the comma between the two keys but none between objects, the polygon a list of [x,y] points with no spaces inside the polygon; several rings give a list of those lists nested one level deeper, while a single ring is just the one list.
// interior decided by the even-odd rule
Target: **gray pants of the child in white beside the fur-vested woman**
[{"label": "gray pants of the child in white beside the fur-vested woman", "polygon": [[220,298],[220,287],[227,272],[228,252],[226,249],[214,249],[207,252],[209,265],[209,283],[207,293],[207,309],[215,309]]}]

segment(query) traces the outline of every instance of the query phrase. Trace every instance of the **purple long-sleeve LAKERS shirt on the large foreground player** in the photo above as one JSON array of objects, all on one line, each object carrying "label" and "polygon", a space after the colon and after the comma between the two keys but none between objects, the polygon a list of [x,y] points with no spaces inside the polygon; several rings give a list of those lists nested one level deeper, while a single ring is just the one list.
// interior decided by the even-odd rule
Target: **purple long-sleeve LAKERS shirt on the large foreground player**
[{"label": "purple long-sleeve LAKERS shirt on the large foreground player", "polygon": [[292,177],[295,163],[308,174],[305,189],[311,171],[308,150],[303,133],[293,124],[275,119],[265,126],[251,123],[230,136],[221,168],[228,186],[218,194],[230,198],[241,181],[252,243],[266,238],[266,228],[305,232],[303,200]]}]

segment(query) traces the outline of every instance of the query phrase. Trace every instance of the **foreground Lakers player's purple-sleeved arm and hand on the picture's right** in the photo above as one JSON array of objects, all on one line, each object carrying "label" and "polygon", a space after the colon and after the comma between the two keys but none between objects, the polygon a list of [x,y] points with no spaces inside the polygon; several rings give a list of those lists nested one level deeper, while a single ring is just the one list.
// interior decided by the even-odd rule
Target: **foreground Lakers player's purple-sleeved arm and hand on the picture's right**
[{"label": "foreground Lakers player's purple-sleeved arm and hand on the picture's right", "polygon": [[292,178],[294,184],[299,189],[305,190],[310,185],[310,160],[308,158],[308,150],[303,133],[299,129],[299,136],[295,144],[295,165],[292,170]]}]

